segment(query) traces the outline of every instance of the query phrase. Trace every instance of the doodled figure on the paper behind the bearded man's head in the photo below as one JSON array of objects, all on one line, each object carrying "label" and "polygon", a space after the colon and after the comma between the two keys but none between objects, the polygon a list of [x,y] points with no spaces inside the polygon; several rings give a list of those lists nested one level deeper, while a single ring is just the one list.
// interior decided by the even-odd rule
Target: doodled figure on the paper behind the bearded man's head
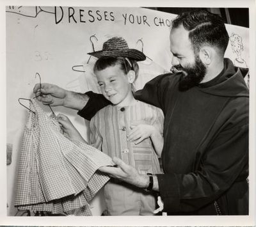
[{"label": "doodled figure on the paper behind the bearded man's head", "polygon": [[246,61],[241,56],[242,51],[244,50],[242,37],[237,35],[236,33],[232,33],[232,35],[230,36],[230,43],[232,51],[237,56],[234,59],[234,65],[236,65],[236,67],[248,68]]}]

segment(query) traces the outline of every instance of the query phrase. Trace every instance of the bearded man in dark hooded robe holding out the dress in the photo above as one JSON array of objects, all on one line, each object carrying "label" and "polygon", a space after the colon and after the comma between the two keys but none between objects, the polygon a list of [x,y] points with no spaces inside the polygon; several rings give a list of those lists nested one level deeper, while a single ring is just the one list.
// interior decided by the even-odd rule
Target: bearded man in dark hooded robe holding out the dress
[{"label": "bearded man in dark hooded robe holding out the dress", "polygon": [[[139,174],[117,158],[117,168],[100,169],[159,192],[168,215],[248,215],[249,94],[241,71],[224,58],[227,45],[217,15],[200,10],[173,20],[170,51],[179,72],[159,75],[134,94],[163,110],[164,174]],[[109,105],[92,92],[77,94],[52,84],[38,89],[36,84],[44,104],[77,109],[88,120]]]}]

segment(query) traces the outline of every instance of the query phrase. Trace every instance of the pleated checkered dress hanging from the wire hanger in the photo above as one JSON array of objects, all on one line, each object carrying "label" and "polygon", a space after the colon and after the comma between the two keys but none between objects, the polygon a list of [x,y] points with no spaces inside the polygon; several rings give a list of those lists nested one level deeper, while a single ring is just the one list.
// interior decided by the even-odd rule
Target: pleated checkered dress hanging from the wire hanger
[{"label": "pleated checkered dress hanging from the wire hanger", "polygon": [[[32,100],[22,138],[15,206],[52,214],[90,215],[88,202],[109,180],[97,171],[108,155],[63,136],[54,116]],[[80,212],[77,212],[79,209]]]}]

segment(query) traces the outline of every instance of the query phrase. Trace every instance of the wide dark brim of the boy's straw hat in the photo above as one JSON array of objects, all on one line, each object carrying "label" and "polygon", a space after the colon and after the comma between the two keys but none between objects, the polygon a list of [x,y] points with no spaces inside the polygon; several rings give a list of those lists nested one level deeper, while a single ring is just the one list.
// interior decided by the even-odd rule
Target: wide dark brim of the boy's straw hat
[{"label": "wide dark brim of the boy's straw hat", "polygon": [[146,59],[145,54],[143,54],[143,52],[138,51],[136,49],[127,49],[127,50],[112,49],[108,51],[89,52],[87,54],[90,54],[96,58],[109,56],[109,57],[132,58],[136,61],[144,61]]}]

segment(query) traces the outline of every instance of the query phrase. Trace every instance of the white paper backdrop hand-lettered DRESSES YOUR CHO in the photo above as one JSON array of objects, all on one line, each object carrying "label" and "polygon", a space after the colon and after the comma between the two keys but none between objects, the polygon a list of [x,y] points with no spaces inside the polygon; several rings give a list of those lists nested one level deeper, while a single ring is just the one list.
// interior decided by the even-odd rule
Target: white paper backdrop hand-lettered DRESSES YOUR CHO
[{"label": "white paper backdrop hand-lettered DRESSES YOUR CHO", "polygon": [[[102,43],[112,36],[122,36],[130,48],[141,50],[138,40],[142,38],[143,52],[158,67],[169,70],[172,61],[170,21],[175,16],[144,8],[6,7],[6,143],[13,146],[12,164],[7,166],[8,215],[16,213],[13,207],[15,178],[20,140],[28,116],[28,110],[19,105],[18,98],[33,97],[33,86],[39,82],[36,72],[42,82],[86,91],[86,84],[81,84],[86,82],[84,73],[72,67],[79,65],[75,68],[84,70],[90,57],[86,53],[93,51],[92,35],[97,37],[97,40],[92,38],[95,51],[102,49]],[[234,63],[236,58],[242,58],[249,67],[248,29],[230,25],[227,29],[230,36],[234,33],[241,37],[233,35],[234,40],[243,43],[243,50],[234,52],[229,44],[226,56]],[[44,109],[50,113],[49,107]],[[53,110],[56,114],[67,114],[81,134],[88,135],[88,127],[76,111],[63,107],[53,107]],[[86,124],[88,126],[88,122]],[[99,198],[93,203],[93,214],[99,215]]]}]

